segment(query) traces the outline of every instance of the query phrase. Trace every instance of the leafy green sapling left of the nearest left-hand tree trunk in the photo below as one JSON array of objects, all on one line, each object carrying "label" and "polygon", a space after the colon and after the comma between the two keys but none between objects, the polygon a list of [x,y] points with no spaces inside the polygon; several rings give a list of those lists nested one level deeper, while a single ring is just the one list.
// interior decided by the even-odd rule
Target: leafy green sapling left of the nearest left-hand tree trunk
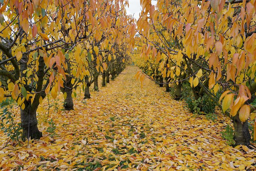
[{"label": "leafy green sapling left of the nearest left-hand tree trunk", "polygon": [[13,99],[6,99],[0,104],[2,110],[0,113],[0,127],[1,130],[3,130],[3,132],[10,138],[9,141],[12,140],[19,144],[19,136],[21,135],[22,128],[21,124],[14,120],[15,114],[13,114],[12,111],[13,102]]}]

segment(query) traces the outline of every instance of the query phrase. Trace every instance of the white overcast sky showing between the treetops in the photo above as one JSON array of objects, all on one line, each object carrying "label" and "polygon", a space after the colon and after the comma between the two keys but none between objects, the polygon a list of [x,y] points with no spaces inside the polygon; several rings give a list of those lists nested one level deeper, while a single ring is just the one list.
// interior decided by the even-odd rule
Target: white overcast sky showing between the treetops
[{"label": "white overcast sky showing between the treetops", "polygon": [[[152,5],[156,5],[157,1],[151,0]],[[134,18],[138,20],[139,13],[141,12],[142,7],[140,6],[140,0],[129,0],[129,8],[126,6],[126,13],[128,15],[134,14]]]}]

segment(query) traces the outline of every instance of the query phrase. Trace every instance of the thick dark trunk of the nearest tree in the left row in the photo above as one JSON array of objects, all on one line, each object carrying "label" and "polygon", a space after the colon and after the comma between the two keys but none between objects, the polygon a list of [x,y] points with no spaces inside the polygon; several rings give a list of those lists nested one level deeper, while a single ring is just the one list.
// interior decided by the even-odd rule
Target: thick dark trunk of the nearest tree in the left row
[{"label": "thick dark trunk of the nearest tree in the left row", "polygon": [[23,129],[22,139],[29,137],[31,137],[31,139],[40,139],[40,137],[42,137],[42,133],[38,130],[37,127],[37,108],[33,110],[31,109],[30,104],[28,102],[25,102],[24,104],[24,110],[20,107],[21,127]]}]

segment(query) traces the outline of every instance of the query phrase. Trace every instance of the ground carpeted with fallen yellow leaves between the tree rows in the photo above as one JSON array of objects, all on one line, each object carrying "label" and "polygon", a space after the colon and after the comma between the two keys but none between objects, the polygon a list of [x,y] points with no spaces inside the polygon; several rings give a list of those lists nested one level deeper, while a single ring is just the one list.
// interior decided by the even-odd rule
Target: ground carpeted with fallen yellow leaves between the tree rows
[{"label": "ground carpeted with fallen yellow leaves between the tree rows", "polygon": [[[193,115],[184,102],[171,99],[151,82],[140,88],[129,66],[91,99],[74,99],[75,111],[59,110],[51,100],[49,119],[57,128],[51,138],[44,122],[47,99],[39,109],[40,140],[8,145],[0,132],[1,170],[254,170],[256,150],[232,148],[222,140],[230,121]],[[79,93],[77,93],[80,95]],[[56,107],[57,105],[57,107]],[[57,109],[56,109],[57,108]],[[62,107],[60,106],[60,109]]]}]

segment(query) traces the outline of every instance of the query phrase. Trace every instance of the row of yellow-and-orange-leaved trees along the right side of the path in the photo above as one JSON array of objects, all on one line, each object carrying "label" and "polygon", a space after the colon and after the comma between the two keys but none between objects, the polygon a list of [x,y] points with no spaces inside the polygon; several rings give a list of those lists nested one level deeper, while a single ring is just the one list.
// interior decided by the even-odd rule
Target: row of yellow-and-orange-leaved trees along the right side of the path
[{"label": "row of yellow-and-orange-leaved trees along the right side of the path", "polygon": [[136,76],[142,83],[165,82],[167,91],[175,84],[176,99],[188,82],[194,99],[207,95],[233,121],[236,145],[249,146],[248,117],[256,92],[256,1],[140,3],[133,61],[143,72]]}]

